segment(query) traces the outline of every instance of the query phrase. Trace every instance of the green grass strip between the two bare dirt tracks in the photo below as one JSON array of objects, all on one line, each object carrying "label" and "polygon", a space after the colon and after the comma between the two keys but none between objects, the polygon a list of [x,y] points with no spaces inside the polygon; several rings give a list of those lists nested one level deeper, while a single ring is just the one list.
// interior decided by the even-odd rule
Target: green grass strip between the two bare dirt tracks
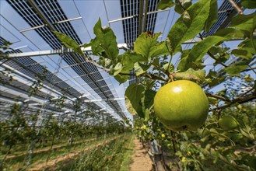
[{"label": "green grass strip between the two bare dirt tracks", "polygon": [[58,163],[54,170],[128,170],[133,148],[132,134],[124,134],[105,145],[83,152],[76,159]]}]

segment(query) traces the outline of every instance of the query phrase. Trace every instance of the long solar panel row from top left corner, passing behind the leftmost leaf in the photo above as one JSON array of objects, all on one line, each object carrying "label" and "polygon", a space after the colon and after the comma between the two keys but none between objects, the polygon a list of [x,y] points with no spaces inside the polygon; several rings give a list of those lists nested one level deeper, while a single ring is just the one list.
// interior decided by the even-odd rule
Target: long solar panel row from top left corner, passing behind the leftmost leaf
[{"label": "long solar panel row from top left corner, passing behind the leftmost leaf", "polygon": [[[52,30],[57,30],[61,33],[67,34],[69,37],[72,37],[77,44],[82,44],[82,41],[79,40],[78,35],[75,33],[71,23],[57,23],[68,19],[65,16],[65,13],[61,9],[61,6],[58,4],[57,0],[54,1],[19,1],[19,0],[8,0],[10,5],[19,13],[31,27],[42,26],[48,23],[51,23],[51,26],[43,26],[37,28],[36,31],[42,37],[47,44],[49,44],[53,49],[61,49],[61,43],[58,38],[52,33]],[[37,9],[33,8],[33,5],[36,5]],[[42,12],[42,13],[40,13]],[[43,17],[42,17],[43,16]],[[44,18],[46,17],[46,18]],[[46,22],[47,21],[47,22]],[[77,58],[79,62],[83,65],[82,69],[80,65],[77,65]],[[79,75],[81,78],[102,98],[102,99],[113,99],[114,95],[110,91],[107,83],[104,81],[102,75],[98,69],[85,61],[79,54],[65,54],[63,59],[71,68]],[[124,113],[122,112],[121,105],[117,101],[106,101],[115,112],[117,112],[120,117],[124,118]]]}]

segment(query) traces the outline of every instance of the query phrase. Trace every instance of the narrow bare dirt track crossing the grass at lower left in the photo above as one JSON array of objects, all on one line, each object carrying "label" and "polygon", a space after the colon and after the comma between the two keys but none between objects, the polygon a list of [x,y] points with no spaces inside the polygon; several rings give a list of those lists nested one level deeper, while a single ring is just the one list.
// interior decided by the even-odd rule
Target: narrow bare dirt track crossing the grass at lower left
[{"label": "narrow bare dirt track crossing the grass at lower left", "polygon": [[[119,137],[116,137],[116,138],[119,138]],[[28,170],[30,170],[30,171],[31,170],[44,170],[46,168],[47,168],[47,170],[54,170],[54,166],[58,162],[63,162],[63,161],[69,160],[69,159],[73,159],[73,158],[75,158],[75,156],[79,155],[82,152],[85,152],[85,151],[87,151],[89,149],[92,149],[92,148],[97,148],[97,147],[99,147],[101,145],[104,145],[104,144],[107,144],[107,143],[109,143],[110,141],[113,141],[116,138],[111,138],[110,140],[103,141],[103,142],[101,142],[100,144],[97,144],[97,145],[89,145],[88,147],[86,147],[82,150],[75,151],[75,152],[70,152],[68,155],[61,155],[57,159],[52,159],[49,162],[47,162],[47,166],[45,165],[45,162],[44,162],[44,163],[40,163],[40,164],[37,164],[35,166],[32,166],[32,168],[30,168]]]}]

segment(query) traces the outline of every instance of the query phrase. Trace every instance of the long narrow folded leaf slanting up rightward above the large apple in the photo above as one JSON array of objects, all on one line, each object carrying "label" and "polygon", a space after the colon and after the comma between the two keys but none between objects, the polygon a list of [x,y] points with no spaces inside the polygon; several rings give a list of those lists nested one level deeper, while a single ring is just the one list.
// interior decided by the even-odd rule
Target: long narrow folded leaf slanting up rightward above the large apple
[{"label": "long narrow folded leaf slanting up rightward above the large apple", "polygon": [[206,37],[204,40],[194,45],[188,56],[181,59],[177,68],[181,71],[186,71],[188,68],[200,67],[200,65],[202,65],[202,58],[206,52],[209,51],[213,45],[223,40],[226,40],[226,38],[216,36]]}]

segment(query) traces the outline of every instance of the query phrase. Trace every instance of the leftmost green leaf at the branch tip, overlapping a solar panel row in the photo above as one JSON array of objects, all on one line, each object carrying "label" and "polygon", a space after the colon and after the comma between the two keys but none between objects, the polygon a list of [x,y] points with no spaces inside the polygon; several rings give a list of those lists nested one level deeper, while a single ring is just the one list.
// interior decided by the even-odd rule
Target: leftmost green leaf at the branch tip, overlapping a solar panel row
[{"label": "leftmost green leaf at the branch tip, overlapping a solar panel row", "polygon": [[61,43],[64,44],[65,47],[71,48],[78,54],[83,54],[81,48],[79,47],[79,44],[76,44],[75,40],[58,31],[54,31],[54,34],[58,37],[59,40],[61,40]]}]

